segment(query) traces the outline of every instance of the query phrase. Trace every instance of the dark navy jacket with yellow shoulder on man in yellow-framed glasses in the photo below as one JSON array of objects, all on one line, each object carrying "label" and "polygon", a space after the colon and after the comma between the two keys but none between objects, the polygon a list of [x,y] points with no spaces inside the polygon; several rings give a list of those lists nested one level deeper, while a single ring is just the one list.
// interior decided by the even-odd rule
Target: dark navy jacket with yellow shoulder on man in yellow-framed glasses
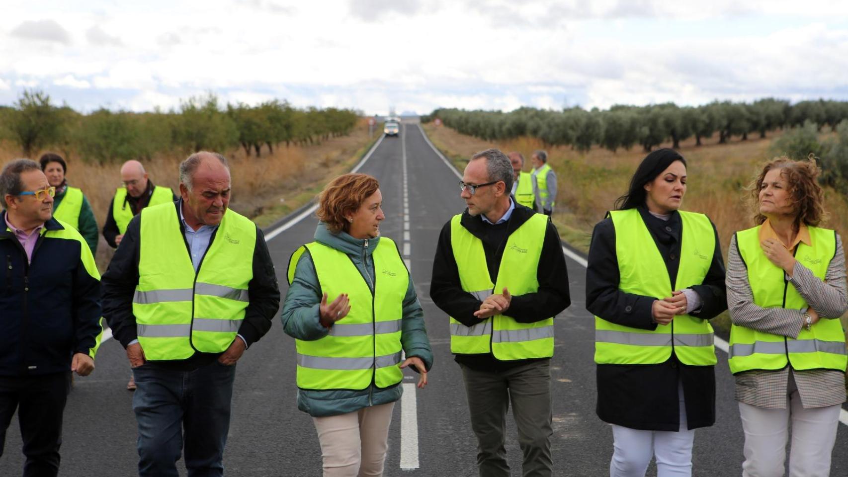
[{"label": "dark navy jacket with yellow shoulder on man in yellow-framed glasses", "polygon": [[[27,263],[24,247],[6,226],[5,211],[0,224],[5,275],[0,282],[0,375],[70,371],[73,354],[88,354],[101,330],[100,281],[82,262],[82,254],[90,256],[91,250],[81,236],[42,234]],[[44,228],[64,230],[56,219]]]}]

